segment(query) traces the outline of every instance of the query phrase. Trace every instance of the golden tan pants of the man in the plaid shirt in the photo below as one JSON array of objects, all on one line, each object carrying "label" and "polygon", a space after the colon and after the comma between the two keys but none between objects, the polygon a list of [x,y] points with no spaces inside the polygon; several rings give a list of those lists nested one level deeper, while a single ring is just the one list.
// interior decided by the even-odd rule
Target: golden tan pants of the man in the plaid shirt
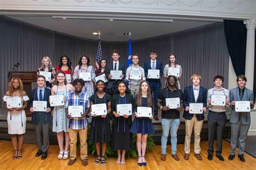
[{"label": "golden tan pants of the man in the plaid shirt", "polygon": [[80,157],[84,160],[87,159],[87,126],[85,129],[69,129],[70,159],[73,160],[77,156],[77,133],[80,138]]}]

